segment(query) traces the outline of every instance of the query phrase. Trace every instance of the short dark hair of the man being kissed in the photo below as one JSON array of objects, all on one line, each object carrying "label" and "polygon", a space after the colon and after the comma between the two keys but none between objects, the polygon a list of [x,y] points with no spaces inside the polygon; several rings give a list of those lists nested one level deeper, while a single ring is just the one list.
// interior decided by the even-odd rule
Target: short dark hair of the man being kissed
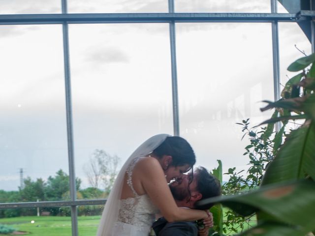
[{"label": "short dark hair of the man being kissed", "polygon": [[[213,198],[221,195],[221,184],[220,181],[204,167],[197,168],[198,175],[194,177],[197,178],[197,191],[202,194],[203,199]],[[200,201],[199,200],[199,201]],[[198,201],[196,202],[198,203]],[[199,206],[195,204],[195,209],[207,210],[210,209],[214,204],[207,204]]]}]

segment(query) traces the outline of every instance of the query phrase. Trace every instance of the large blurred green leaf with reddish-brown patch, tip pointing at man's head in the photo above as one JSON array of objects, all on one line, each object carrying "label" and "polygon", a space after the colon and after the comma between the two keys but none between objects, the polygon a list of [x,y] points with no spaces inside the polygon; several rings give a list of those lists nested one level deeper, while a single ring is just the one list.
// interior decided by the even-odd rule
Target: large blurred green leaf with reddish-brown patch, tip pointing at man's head
[{"label": "large blurred green leaf with reddish-brown patch, tip pointing at man's head", "polygon": [[279,222],[299,225],[306,231],[315,228],[315,182],[299,180],[293,183],[270,184],[250,193],[205,199],[199,205],[221,203],[247,216],[263,211]]}]

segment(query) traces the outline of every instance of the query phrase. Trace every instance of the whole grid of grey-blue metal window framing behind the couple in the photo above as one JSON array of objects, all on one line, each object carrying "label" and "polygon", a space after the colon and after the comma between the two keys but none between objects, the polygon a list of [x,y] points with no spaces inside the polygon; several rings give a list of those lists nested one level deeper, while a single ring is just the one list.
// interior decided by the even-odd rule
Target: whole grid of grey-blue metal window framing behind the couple
[{"label": "whole grid of grey-blue metal window framing behind the couple", "polygon": [[[174,135],[179,135],[179,105],[176,68],[176,29],[177,23],[271,23],[273,38],[274,94],[279,98],[279,38],[278,22],[310,22],[312,27],[312,50],[315,48],[315,11],[298,13],[277,13],[277,0],[271,0],[271,13],[175,13],[174,0],[168,0],[168,13],[67,13],[67,1],[62,0],[61,14],[11,14],[0,15],[0,25],[41,25],[60,24],[63,26],[63,57],[65,102],[68,142],[68,162],[71,201],[2,203],[0,209],[25,207],[71,207],[72,236],[78,236],[77,206],[103,205],[106,199],[77,200],[75,188],[74,145],[72,126],[72,102],[70,83],[70,60],[68,42],[68,24],[106,24],[106,23],[168,23],[170,31],[170,56],[172,68],[173,125]],[[279,129],[279,127],[278,127]]]}]

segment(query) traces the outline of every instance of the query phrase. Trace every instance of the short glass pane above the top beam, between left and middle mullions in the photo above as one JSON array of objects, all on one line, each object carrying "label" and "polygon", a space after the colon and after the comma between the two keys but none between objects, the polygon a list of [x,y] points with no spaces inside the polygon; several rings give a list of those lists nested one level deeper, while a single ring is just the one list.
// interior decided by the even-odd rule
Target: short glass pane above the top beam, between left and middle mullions
[{"label": "short glass pane above the top beam, between left and middle mullions", "polygon": [[68,0],[69,13],[168,12],[167,0]]}]

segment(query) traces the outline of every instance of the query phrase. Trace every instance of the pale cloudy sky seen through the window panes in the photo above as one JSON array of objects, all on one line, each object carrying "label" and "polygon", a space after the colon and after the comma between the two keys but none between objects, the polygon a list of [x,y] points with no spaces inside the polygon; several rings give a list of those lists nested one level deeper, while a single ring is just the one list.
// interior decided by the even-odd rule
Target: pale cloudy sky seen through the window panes
[{"label": "pale cloudy sky seen through the window panes", "polygon": [[[239,3],[239,4],[237,4]],[[270,12],[269,0],[175,0],[176,12]],[[58,0],[0,0],[0,14],[60,13]],[[167,12],[166,0],[69,0],[69,13]],[[279,12],[285,10],[279,4]],[[279,23],[282,85],[287,66],[311,45],[294,23]],[[75,173],[95,149],[128,155],[157,133],[173,133],[169,26],[69,25]],[[176,24],[180,135],[209,170],[246,169],[236,122],[269,118],[273,100],[269,23]],[[24,177],[68,173],[60,25],[0,26],[0,189]],[[224,177],[226,180],[227,177]]]}]

